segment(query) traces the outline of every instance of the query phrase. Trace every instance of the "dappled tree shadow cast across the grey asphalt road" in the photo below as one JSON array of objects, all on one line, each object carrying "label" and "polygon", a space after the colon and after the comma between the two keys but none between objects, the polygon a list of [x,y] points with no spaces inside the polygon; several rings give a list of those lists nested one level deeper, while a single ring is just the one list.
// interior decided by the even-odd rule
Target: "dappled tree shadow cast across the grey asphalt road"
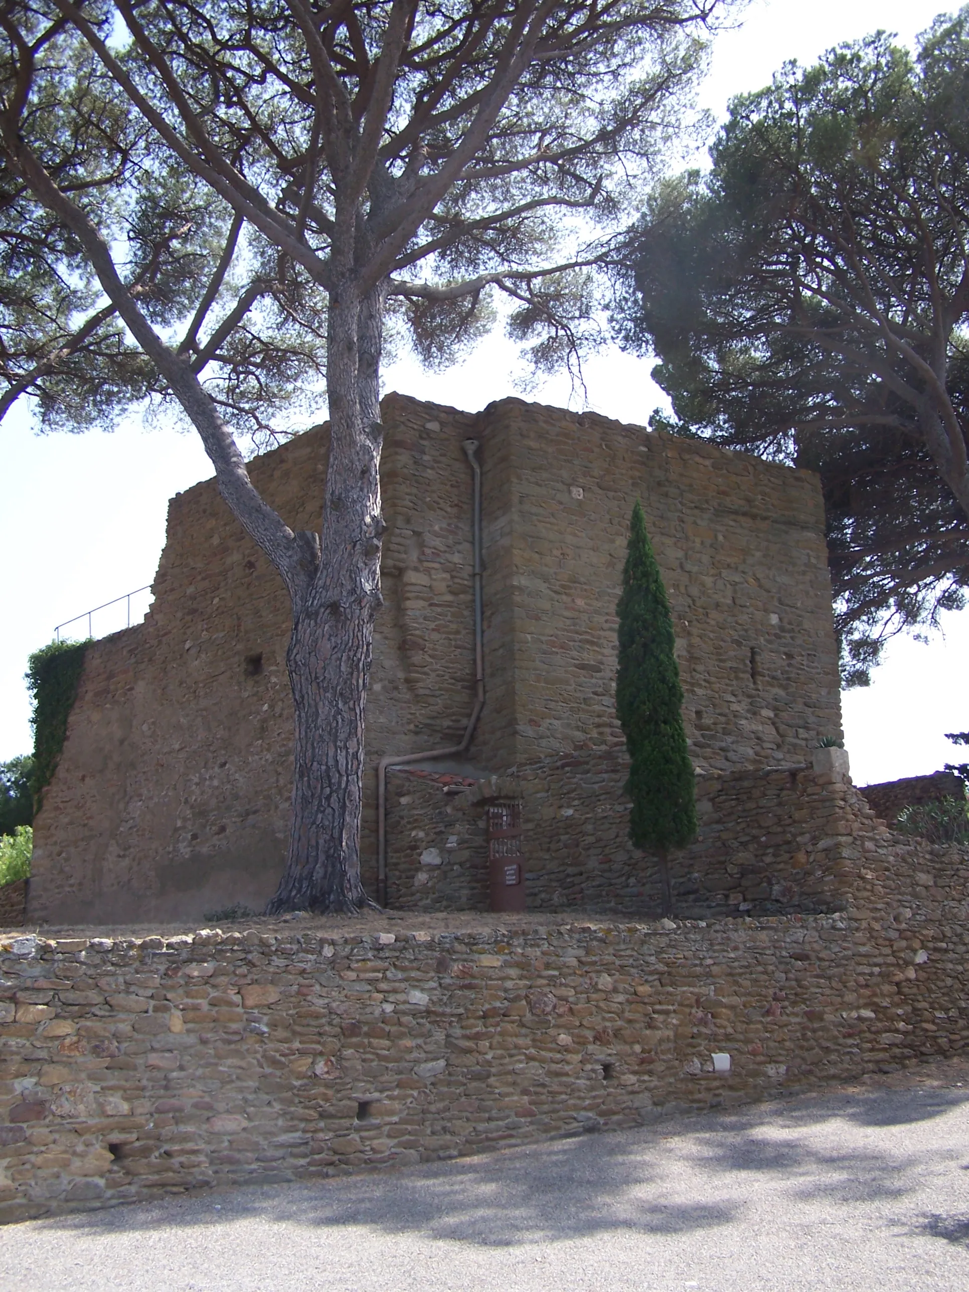
[{"label": "dappled tree shadow cast across the grey asphalt road", "polygon": [[[301,1226],[367,1226],[385,1234],[481,1247],[580,1239],[602,1233],[678,1235],[743,1221],[744,1191],[761,1176],[802,1199],[857,1204],[919,1187],[925,1155],[879,1151],[846,1134],[833,1147],[810,1128],[841,1120],[895,1127],[941,1116],[969,1090],[876,1090],[749,1105],[583,1134],[451,1162],[307,1183],[220,1189],[35,1222],[74,1231],[217,1226],[247,1217]],[[875,1105],[885,1101],[886,1107]],[[957,1152],[953,1146],[952,1155]],[[938,1162],[938,1154],[932,1156]],[[703,1177],[677,1187],[672,1168]],[[739,1180],[745,1180],[743,1189]],[[698,1194],[703,1200],[698,1202]],[[217,1209],[218,1208],[218,1209]],[[941,1235],[943,1236],[943,1235]]]}]

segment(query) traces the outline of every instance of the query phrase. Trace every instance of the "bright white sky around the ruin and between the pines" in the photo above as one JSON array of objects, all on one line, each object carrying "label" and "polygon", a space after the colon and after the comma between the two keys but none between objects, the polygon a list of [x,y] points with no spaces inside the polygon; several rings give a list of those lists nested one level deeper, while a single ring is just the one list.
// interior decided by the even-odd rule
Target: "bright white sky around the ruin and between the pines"
[{"label": "bright white sky around the ruin and between the pines", "polygon": [[[824,49],[881,27],[913,45],[937,13],[924,0],[752,0],[714,41],[699,105],[722,119],[734,94],[760,89],[789,58],[813,62]],[[541,403],[589,407],[628,422],[646,422],[663,402],[650,360],[610,349],[585,368],[587,402],[568,379],[554,376],[530,393]],[[402,359],[385,367],[386,390],[460,408],[519,394],[514,346],[487,337],[464,363],[425,373]],[[320,407],[319,417],[326,416]],[[165,536],[168,499],[212,475],[195,433],[146,430],[140,421],[107,434],[36,435],[22,410],[0,425],[0,760],[31,744],[23,685],[27,656],[54,628],[150,584]],[[140,621],[149,594],[132,598]],[[123,628],[127,602],[92,618],[94,636]],[[87,636],[87,618],[67,636]],[[858,784],[933,771],[959,751],[946,731],[969,730],[964,662],[969,610],[950,614],[929,645],[899,637],[873,685],[844,696],[845,744]]]}]

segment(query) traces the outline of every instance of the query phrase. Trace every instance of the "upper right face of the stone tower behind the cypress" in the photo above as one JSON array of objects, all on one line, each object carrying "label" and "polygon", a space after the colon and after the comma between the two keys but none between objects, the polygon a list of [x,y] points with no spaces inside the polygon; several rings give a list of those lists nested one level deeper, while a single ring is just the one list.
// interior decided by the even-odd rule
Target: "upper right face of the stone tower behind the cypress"
[{"label": "upper right face of the stone tower behind the cypress", "polygon": [[840,733],[815,475],[518,399],[483,416],[484,450],[501,446],[512,479],[514,751],[486,760],[494,770],[619,742],[615,609],[637,499],[673,612],[694,762],[801,762]]}]

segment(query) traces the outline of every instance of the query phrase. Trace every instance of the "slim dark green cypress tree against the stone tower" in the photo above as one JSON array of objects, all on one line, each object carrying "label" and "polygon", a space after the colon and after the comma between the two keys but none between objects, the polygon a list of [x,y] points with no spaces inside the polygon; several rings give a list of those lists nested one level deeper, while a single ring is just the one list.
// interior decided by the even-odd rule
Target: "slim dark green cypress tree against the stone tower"
[{"label": "slim dark green cypress tree against the stone tower", "polygon": [[629,839],[658,854],[663,915],[673,907],[669,851],[696,836],[694,770],[686,749],[683,691],[673,616],[637,501],[629,526],[619,614],[616,717],[629,751]]}]

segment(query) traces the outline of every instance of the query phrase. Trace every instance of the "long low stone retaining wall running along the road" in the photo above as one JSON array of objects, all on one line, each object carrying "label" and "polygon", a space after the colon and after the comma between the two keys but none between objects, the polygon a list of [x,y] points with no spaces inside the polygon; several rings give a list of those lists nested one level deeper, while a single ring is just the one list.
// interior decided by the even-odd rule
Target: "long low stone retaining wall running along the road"
[{"label": "long low stone retaining wall running along the road", "polygon": [[966,858],[877,823],[858,846],[835,915],[8,935],[0,1218],[636,1125],[961,1049]]}]

